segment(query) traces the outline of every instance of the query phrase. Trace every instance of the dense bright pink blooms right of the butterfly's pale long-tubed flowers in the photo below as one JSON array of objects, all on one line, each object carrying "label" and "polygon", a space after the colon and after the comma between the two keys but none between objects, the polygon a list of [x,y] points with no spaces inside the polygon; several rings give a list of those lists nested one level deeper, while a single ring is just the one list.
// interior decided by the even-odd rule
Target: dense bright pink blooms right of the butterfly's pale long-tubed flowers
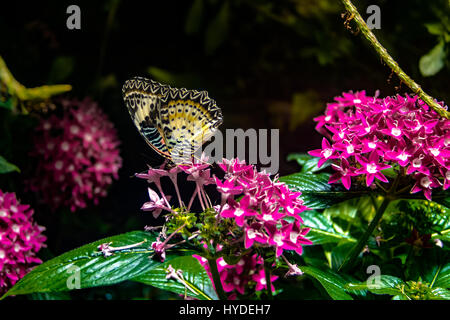
[{"label": "dense bright pink blooms right of the butterfly's pale long-tubed flowers", "polygon": [[[285,183],[272,180],[265,172],[239,159],[219,163],[225,172],[224,180],[215,177],[217,190],[222,194],[218,213],[223,218],[234,219],[244,231],[244,247],[253,245],[272,247],[279,257],[283,250],[302,254],[303,245],[312,242],[305,238],[309,228],[302,226],[300,213],[308,208]],[[242,196],[236,201],[236,196]],[[293,218],[288,222],[286,218]]]}]

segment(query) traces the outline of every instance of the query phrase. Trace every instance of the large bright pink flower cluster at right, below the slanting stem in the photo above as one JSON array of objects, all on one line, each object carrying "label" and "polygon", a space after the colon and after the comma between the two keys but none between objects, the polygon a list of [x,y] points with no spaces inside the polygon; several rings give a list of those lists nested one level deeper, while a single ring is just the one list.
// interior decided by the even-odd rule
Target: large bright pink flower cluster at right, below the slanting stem
[{"label": "large bright pink flower cluster at right, below the slanting stem", "polygon": [[314,119],[328,139],[323,138],[321,149],[309,152],[320,157],[319,167],[332,161],[336,172],[329,183],[341,181],[350,189],[352,177],[365,176],[373,187],[375,179],[388,182],[382,171],[395,166],[412,175],[411,193],[422,191],[431,200],[434,188],[448,189],[450,120],[417,96],[381,99],[361,91],[343,93],[335,101]]}]

